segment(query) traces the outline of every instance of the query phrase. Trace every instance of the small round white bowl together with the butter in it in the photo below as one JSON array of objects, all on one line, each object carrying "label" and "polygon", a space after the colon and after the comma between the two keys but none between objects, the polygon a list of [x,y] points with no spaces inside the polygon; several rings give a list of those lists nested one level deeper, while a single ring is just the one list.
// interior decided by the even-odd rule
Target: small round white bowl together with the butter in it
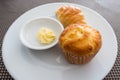
[{"label": "small round white bowl together with the butter in it", "polygon": [[37,18],[21,28],[20,40],[30,49],[48,49],[57,44],[63,29],[62,24],[56,19]]}]

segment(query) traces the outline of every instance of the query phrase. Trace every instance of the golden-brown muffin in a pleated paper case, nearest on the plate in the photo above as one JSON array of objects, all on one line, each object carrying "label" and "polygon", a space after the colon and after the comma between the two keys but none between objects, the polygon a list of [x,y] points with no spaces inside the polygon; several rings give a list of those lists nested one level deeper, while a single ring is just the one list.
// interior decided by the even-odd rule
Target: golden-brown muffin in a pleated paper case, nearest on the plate
[{"label": "golden-brown muffin in a pleated paper case, nearest on the plate", "polygon": [[98,30],[80,24],[72,24],[64,29],[59,38],[65,58],[73,64],[89,62],[102,44]]}]

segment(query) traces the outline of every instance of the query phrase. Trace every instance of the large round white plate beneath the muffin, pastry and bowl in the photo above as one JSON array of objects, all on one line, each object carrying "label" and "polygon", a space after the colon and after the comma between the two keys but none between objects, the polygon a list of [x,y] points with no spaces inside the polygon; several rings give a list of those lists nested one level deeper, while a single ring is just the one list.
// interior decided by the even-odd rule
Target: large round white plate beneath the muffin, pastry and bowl
[{"label": "large round white plate beneath the muffin, pastry and bowl", "polygon": [[[69,64],[58,45],[48,50],[35,51],[24,47],[19,40],[20,28],[28,20],[44,16],[56,18],[55,12],[62,5],[80,7],[87,23],[102,34],[102,48],[88,64]],[[101,80],[115,62],[117,41],[110,24],[95,11],[72,3],[50,3],[20,16],[7,31],[2,51],[5,66],[16,80]]]}]

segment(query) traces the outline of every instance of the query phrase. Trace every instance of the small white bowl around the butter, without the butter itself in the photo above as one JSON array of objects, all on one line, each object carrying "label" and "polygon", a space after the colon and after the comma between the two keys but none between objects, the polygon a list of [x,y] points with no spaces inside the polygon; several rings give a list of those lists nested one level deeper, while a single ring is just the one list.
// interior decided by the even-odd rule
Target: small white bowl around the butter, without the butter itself
[{"label": "small white bowl around the butter, without the butter itself", "polygon": [[[46,27],[54,31],[56,39],[50,44],[42,44],[37,40],[40,28]],[[53,18],[37,18],[25,24],[20,31],[21,42],[30,49],[44,50],[53,47],[58,43],[58,38],[63,31],[62,24]]]}]

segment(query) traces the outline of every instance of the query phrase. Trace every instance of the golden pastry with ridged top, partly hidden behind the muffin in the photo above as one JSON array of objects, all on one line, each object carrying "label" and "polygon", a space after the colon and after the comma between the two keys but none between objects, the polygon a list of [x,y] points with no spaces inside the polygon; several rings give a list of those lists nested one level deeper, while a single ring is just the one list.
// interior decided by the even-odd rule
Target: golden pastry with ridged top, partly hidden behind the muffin
[{"label": "golden pastry with ridged top, partly hidden behind the muffin", "polygon": [[57,12],[57,17],[64,27],[79,23],[86,24],[82,11],[74,6],[62,6]]}]

